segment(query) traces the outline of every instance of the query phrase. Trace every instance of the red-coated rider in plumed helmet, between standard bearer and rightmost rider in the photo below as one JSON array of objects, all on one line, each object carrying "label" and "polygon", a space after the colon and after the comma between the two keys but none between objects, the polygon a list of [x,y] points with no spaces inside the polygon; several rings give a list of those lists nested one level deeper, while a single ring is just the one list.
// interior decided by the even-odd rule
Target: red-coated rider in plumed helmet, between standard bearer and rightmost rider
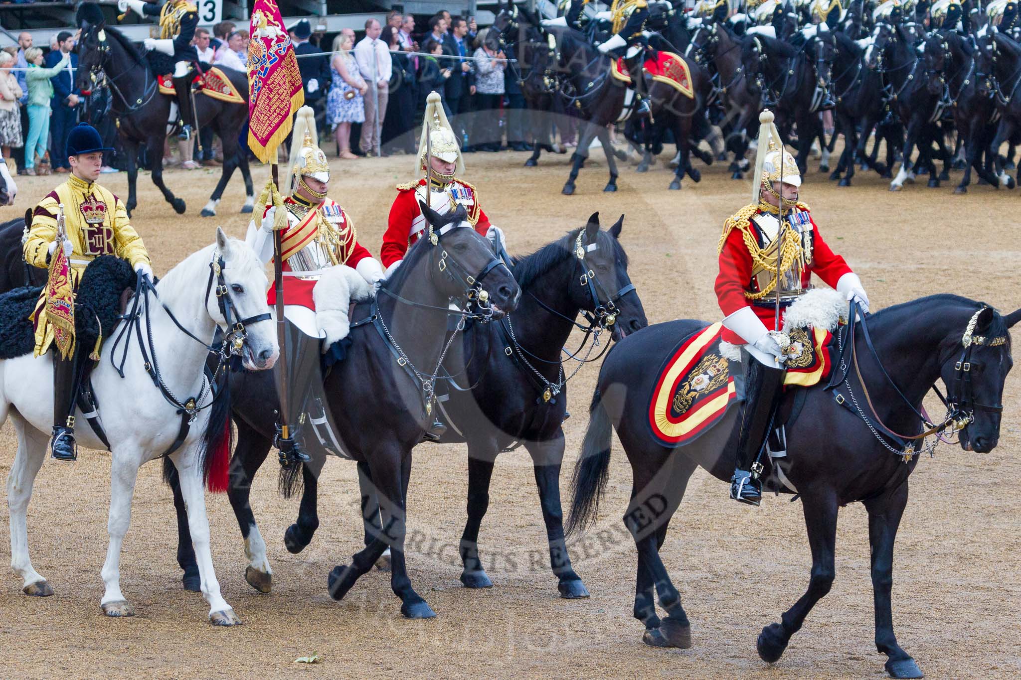
[{"label": "red-coated rider in plumed helmet, between standard bearer and rightmost rider", "polygon": [[493,243],[497,254],[504,251],[503,231],[489,223],[489,218],[479,203],[479,192],[472,185],[454,176],[465,172],[465,161],[460,155],[460,147],[457,146],[457,137],[450,127],[440,97],[435,92],[430,93],[426,100],[426,115],[419,144],[418,169],[423,175],[426,173],[427,134],[432,151],[432,166],[428,172],[429,188],[426,188],[425,176],[406,185],[397,185],[397,198],[390,206],[390,217],[383,234],[383,246],[380,248],[380,259],[386,267],[387,275],[401,263],[407,249],[426,232],[426,217],[422,214],[419,201],[426,203],[440,215],[458,205],[465,206],[468,221],[475,230]]}]

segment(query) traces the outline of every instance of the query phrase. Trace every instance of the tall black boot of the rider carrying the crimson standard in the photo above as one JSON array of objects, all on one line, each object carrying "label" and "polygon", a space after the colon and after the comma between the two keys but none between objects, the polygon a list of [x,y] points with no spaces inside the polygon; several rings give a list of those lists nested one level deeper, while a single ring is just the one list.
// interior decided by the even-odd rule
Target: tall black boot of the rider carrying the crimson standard
[{"label": "tall black boot of the rider carrying the crimson standard", "polygon": [[280,449],[280,464],[283,466],[291,463],[307,463],[311,460],[311,457],[302,451],[301,429],[305,424],[309,397],[313,393],[320,394],[323,385],[319,338],[306,335],[290,322],[287,323],[287,423],[290,440],[281,437],[278,423],[275,442]]}]

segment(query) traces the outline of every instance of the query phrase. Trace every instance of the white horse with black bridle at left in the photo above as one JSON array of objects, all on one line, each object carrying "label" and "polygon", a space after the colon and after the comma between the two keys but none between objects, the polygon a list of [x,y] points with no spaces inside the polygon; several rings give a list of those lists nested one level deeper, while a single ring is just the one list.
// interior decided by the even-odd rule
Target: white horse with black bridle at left
[{"label": "white horse with black bridle at left", "polygon": [[[103,346],[101,361],[92,373],[92,384],[112,458],[110,543],[102,570],[106,590],[100,601],[107,616],[134,614],[120,592],[119,564],[121,542],[131,522],[138,468],[160,457],[178,439],[182,419],[171,402],[183,405],[190,398],[197,398],[194,406],[200,410],[194,413],[195,419],[184,442],[169,458],[177,466],[188,507],[202,594],[209,603],[209,621],[225,626],[241,623],[220,593],[209,553],[209,521],[202,488],[205,458],[202,439],[212,409],[201,408],[210,404],[209,385],[203,374],[209,348],[202,343],[211,344],[217,326],[225,331],[236,331],[238,321],[247,322],[238,334],[243,345],[235,346],[245,367],[249,370],[272,368],[279,348],[266,305],[266,286],[262,263],[254,251],[236,239],[228,239],[217,227],[215,244],[190,255],[159,281],[155,294],[149,293],[140,301],[138,327],[133,327],[131,321],[118,322]],[[225,305],[229,310],[226,315]],[[179,328],[174,318],[194,337]],[[124,327],[126,323],[129,324],[127,328]],[[125,335],[114,342],[120,330],[126,331]],[[201,338],[202,343],[196,338]],[[121,377],[117,368],[126,342],[129,345]],[[142,347],[147,355],[145,358]],[[147,366],[158,370],[160,385],[150,377]],[[7,477],[11,567],[25,579],[22,590],[26,594],[51,595],[53,589],[29,560],[26,529],[32,485],[46,458],[48,432],[53,422],[53,360],[49,356],[34,358],[30,354],[0,361],[0,425],[8,416],[14,423],[18,440],[17,456]],[[78,441],[89,449],[103,449],[81,411],[77,420]],[[209,452],[209,456],[212,455],[213,452]]]}]

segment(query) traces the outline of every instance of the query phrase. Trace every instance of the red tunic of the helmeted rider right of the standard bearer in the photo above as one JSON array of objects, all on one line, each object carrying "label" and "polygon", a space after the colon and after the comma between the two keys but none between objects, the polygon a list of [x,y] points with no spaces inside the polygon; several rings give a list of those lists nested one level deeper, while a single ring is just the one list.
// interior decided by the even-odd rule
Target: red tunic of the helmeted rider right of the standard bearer
[{"label": "red tunic of the helmeted rider right of the standard bearer", "polygon": [[[397,185],[397,198],[390,207],[390,219],[380,249],[380,260],[384,267],[389,268],[394,262],[402,260],[407,249],[425,233],[426,218],[419,207],[420,200],[426,200],[424,177],[411,184]],[[476,231],[486,236],[489,218],[479,205],[478,191],[456,177],[441,191],[433,191],[430,196],[430,207],[441,215],[455,205],[465,206],[468,221]]]}]

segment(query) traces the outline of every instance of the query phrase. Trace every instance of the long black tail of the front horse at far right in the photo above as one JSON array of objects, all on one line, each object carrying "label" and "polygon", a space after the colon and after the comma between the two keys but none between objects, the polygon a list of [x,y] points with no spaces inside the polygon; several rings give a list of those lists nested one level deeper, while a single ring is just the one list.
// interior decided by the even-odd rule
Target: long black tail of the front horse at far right
[{"label": "long black tail of the front horse at far right", "polygon": [[613,429],[610,414],[602,406],[602,396],[596,387],[588,409],[588,429],[581,444],[581,457],[571,476],[574,501],[568,517],[567,535],[578,529],[584,530],[595,520],[599,496],[606,490],[610,479],[610,438]]}]

